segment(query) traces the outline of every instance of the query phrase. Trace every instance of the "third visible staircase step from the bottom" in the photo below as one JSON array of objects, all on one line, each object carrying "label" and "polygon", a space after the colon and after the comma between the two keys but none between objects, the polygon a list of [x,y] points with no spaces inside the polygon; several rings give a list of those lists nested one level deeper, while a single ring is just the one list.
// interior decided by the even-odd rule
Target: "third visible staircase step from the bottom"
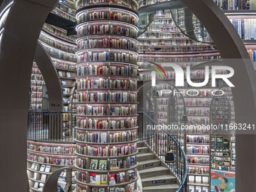
[{"label": "third visible staircase step from the bottom", "polygon": [[169,174],[169,169],[164,166],[155,166],[150,169],[142,169],[139,171],[141,178],[149,178],[167,174]]}]

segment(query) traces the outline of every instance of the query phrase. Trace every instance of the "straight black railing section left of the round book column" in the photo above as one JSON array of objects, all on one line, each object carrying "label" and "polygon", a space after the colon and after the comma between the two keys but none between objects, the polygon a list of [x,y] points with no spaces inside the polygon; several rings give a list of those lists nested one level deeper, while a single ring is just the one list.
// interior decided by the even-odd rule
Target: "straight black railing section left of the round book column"
[{"label": "straight black railing section left of the round book column", "polygon": [[37,141],[73,142],[75,113],[29,111],[27,139]]}]

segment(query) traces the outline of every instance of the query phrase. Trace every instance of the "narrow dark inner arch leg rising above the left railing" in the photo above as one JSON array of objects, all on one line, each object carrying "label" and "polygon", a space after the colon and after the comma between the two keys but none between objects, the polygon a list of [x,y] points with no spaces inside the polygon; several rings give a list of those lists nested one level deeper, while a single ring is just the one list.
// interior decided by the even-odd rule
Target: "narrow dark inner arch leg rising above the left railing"
[{"label": "narrow dark inner arch leg rising above the left railing", "polygon": [[[49,96],[49,110],[62,111],[62,90],[56,69],[44,47],[38,42],[35,50],[35,62],[44,77]],[[51,105],[54,104],[54,105]],[[59,104],[59,106],[55,105]]]}]

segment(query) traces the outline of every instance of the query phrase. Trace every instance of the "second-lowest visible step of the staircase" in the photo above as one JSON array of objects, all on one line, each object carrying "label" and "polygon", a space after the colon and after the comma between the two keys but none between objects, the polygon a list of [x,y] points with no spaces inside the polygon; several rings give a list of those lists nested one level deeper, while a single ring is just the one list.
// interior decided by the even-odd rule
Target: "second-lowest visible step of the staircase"
[{"label": "second-lowest visible step of the staircase", "polygon": [[175,184],[176,178],[172,175],[160,175],[150,178],[142,178],[143,187],[162,185],[162,184]]}]

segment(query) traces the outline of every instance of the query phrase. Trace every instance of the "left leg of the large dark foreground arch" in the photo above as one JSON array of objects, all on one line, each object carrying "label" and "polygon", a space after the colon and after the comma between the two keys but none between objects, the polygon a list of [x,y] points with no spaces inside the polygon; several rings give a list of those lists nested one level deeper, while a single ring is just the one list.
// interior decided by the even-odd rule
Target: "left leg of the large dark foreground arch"
[{"label": "left leg of the large dark foreground arch", "polygon": [[39,33],[56,2],[14,1],[5,23],[0,52],[0,186],[7,192],[29,191],[26,127],[32,62]]}]

